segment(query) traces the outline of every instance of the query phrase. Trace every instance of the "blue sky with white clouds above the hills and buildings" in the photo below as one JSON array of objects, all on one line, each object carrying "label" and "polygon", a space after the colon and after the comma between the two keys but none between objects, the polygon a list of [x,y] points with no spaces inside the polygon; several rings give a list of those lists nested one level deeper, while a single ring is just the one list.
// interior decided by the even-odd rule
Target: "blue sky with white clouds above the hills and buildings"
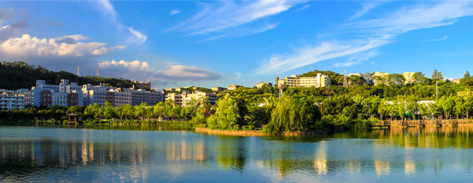
[{"label": "blue sky with white clouds above the hills and buildings", "polygon": [[472,15],[473,1],[0,1],[0,58],[157,90],[312,70],[453,79],[472,65]]}]

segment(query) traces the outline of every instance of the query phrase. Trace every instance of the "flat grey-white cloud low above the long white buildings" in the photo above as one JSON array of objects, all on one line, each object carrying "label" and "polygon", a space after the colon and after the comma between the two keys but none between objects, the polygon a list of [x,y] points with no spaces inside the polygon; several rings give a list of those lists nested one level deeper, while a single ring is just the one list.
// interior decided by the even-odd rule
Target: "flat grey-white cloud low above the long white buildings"
[{"label": "flat grey-white cloud low above the long white buildings", "polygon": [[100,72],[114,77],[151,80],[157,83],[176,81],[217,80],[221,76],[212,70],[186,65],[170,65],[167,70],[155,70],[143,61],[103,61]]}]

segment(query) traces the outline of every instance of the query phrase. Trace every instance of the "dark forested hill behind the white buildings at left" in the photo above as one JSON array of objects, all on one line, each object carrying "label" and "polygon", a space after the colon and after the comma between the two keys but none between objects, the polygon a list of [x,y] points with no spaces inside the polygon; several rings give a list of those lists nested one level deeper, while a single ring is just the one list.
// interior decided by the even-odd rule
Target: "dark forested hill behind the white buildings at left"
[{"label": "dark forested hill behind the white buildings at left", "polygon": [[0,89],[20,89],[35,86],[36,80],[45,80],[47,84],[59,84],[61,80],[78,82],[82,84],[95,84],[101,82],[113,87],[132,87],[131,80],[112,77],[85,76],[79,77],[71,72],[54,72],[40,65],[29,65],[22,61],[0,63]]}]

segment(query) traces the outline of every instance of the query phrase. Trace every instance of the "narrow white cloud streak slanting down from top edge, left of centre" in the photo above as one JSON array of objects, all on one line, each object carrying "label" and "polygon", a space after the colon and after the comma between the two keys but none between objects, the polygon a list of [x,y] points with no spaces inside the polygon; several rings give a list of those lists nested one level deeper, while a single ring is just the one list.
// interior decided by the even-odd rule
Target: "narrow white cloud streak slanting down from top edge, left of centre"
[{"label": "narrow white cloud streak slanting down from top edge, left of centre", "polygon": [[133,27],[128,27],[123,25],[119,20],[119,15],[116,13],[114,6],[109,0],[100,0],[97,1],[98,7],[100,11],[104,13],[104,15],[109,16],[112,23],[114,23],[119,29],[127,30],[128,31],[128,39],[126,39],[126,44],[136,44],[136,43],[143,43],[146,42],[148,36],[139,32],[138,30],[134,29]]}]

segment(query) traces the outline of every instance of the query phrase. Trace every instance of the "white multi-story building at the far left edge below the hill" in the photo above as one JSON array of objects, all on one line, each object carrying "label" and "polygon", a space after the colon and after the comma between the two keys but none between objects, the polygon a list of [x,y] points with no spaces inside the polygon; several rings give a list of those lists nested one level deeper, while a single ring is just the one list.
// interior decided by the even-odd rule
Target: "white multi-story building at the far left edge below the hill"
[{"label": "white multi-story building at the far left edge below the hill", "polygon": [[25,95],[21,91],[0,89],[0,109],[25,108]]}]

